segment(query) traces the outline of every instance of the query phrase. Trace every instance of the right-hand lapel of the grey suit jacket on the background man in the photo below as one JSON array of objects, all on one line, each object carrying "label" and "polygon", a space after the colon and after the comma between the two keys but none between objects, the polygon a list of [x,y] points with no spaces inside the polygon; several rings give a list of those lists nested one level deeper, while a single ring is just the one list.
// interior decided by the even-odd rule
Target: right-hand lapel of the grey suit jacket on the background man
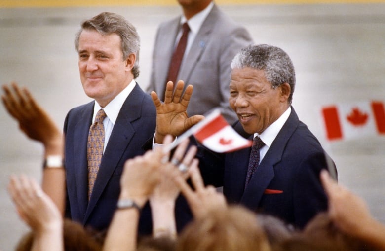
[{"label": "right-hand lapel of the grey suit jacket on the background man", "polygon": [[214,5],[213,9],[210,11],[202,26],[199,29],[198,34],[195,36],[192,46],[189,53],[187,54],[186,59],[181,65],[181,70],[178,74],[178,79],[183,79],[187,84],[189,84],[190,77],[196,64],[199,62],[206,45],[209,40],[212,39],[212,31],[217,22],[218,7]]}]

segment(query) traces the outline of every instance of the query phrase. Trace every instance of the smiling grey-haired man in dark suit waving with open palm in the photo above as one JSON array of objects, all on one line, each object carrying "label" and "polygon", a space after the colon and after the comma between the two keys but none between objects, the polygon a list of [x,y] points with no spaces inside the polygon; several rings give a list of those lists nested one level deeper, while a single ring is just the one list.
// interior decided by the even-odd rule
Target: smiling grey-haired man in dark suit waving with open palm
[{"label": "smiling grey-haired man in dark suit waving with open palm", "polygon": [[[327,209],[319,173],[327,168],[329,157],[291,106],[293,63],[282,49],[261,44],[242,49],[231,69],[229,103],[238,117],[233,127],[254,144],[225,154],[201,148],[198,157],[205,183],[223,185],[229,203],[302,228]],[[203,119],[187,117],[192,86],[182,95],[183,88],[184,83],[178,82],[173,95],[169,83],[164,104],[152,93],[157,109],[155,143],[166,134],[178,136]]]}]

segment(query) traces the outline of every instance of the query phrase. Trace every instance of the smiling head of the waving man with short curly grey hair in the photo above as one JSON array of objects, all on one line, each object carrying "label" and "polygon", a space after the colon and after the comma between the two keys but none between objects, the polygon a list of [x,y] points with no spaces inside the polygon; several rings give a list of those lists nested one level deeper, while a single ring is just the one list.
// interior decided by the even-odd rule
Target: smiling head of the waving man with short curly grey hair
[{"label": "smiling head of the waving man with short curly grey hair", "polygon": [[295,70],[282,49],[267,44],[242,49],[231,62],[231,108],[245,132],[261,134],[291,105]]}]

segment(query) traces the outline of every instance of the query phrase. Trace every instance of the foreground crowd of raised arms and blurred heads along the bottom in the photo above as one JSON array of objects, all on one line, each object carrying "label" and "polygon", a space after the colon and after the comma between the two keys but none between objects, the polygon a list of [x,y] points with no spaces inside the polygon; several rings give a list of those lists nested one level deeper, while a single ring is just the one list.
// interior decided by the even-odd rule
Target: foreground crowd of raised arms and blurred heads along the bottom
[{"label": "foreground crowd of raised arms and blurred heads along the bottom", "polygon": [[[29,91],[12,83],[4,85],[3,92],[5,108],[27,137],[44,145],[44,156],[63,156],[61,131]],[[126,161],[120,180],[118,204],[122,204],[107,233],[64,219],[64,167],[43,169],[41,186],[23,174],[12,175],[8,192],[21,220],[31,228],[16,250],[385,250],[385,226],[373,218],[362,198],[327,171],[321,172],[320,179],[329,198],[328,211],[297,230],[273,216],[228,205],[222,193],[204,185],[194,158],[196,146],[185,140],[171,154],[172,141],[166,136],[161,146]],[[194,219],[177,233],[174,207],[180,193]],[[153,236],[141,238],[137,236],[140,209],[147,202],[152,208]]]}]

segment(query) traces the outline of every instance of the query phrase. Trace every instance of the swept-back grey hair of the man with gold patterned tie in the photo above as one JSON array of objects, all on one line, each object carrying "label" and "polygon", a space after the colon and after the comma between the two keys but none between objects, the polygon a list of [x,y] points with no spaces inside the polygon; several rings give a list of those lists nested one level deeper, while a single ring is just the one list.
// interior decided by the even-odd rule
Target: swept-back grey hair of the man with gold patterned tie
[{"label": "swept-back grey hair of the man with gold patterned tie", "polygon": [[77,52],[79,51],[79,37],[83,30],[96,30],[103,36],[114,33],[120,36],[123,60],[125,60],[128,55],[132,53],[135,54],[136,61],[132,68],[132,74],[134,78],[139,76],[140,38],[135,27],[123,16],[111,12],[102,12],[91,19],[85,20],[75,36],[75,49]]}]

